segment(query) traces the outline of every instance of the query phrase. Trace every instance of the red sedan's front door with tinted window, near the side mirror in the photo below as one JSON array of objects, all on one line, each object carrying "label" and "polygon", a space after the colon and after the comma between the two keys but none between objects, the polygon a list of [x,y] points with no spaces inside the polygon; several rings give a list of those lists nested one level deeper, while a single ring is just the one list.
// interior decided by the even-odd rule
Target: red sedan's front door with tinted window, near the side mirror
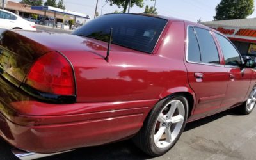
[{"label": "red sedan's front door with tinted window, near the side mirror", "polygon": [[225,59],[225,68],[229,73],[227,96],[221,104],[221,109],[227,109],[243,102],[250,87],[252,70],[241,68],[241,56],[230,40],[218,33],[215,35]]}]

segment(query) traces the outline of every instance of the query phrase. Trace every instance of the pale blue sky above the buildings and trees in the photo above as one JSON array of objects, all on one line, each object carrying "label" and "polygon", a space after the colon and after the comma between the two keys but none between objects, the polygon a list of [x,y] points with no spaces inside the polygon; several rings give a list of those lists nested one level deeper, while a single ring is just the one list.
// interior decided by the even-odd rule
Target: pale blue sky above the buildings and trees
[{"label": "pale blue sky above the buildings and trees", "polygon": [[[12,0],[19,2],[19,0]],[[58,0],[56,0],[58,2]],[[221,0],[156,0],[156,8],[159,15],[166,15],[186,19],[196,22],[198,19],[202,21],[211,21],[215,15],[215,8]],[[64,0],[67,10],[85,13],[94,16],[96,0]],[[102,6],[106,4],[105,0],[99,0],[98,12],[100,14]],[[141,13],[145,6],[154,6],[154,1],[145,0],[144,7],[131,8],[131,13]],[[256,3],[255,3],[256,6]],[[109,6],[106,4],[102,10],[102,14],[112,13],[115,10],[121,11],[117,6]],[[256,17],[256,12],[253,12],[250,18]]]}]

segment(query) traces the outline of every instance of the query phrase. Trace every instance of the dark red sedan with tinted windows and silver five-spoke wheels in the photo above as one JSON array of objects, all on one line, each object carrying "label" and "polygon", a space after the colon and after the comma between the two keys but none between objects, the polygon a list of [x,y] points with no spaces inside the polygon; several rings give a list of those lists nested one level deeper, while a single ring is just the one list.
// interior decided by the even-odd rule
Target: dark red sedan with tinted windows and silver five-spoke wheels
[{"label": "dark red sedan with tinted windows and silver five-spoke wheels", "polygon": [[0,135],[29,155],[133,137],[160,156],[187,122],[255,107],[255,61],[180,19],[109,14],[72,35],[2,29],[0,53]]}]

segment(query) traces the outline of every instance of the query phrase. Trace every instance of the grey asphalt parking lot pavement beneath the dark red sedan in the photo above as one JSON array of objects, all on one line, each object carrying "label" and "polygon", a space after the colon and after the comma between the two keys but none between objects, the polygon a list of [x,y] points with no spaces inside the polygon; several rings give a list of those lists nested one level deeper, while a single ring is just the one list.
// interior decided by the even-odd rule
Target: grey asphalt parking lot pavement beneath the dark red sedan
[{"label": "grey asphalt parking lot pavement beneath the dark red sedan", "polygon": [[[161,157],[143,154],[131,141],[100,147],[80,148],[73,152],[40,160],[82,159],[256,159],[256,110],[251,115],[237,115],[234,110],[187,124],[175,147]],[[0,140],[0,159],[17,160],[10,145]]]}]

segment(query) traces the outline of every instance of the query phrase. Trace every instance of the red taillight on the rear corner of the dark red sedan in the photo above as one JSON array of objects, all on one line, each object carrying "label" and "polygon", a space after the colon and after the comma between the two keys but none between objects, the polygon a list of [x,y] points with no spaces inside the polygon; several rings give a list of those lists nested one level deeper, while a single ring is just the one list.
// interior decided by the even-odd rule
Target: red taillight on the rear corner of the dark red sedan
[{"label": "red taillight on the rear corner of the dark red sedan", "polygon": [[42,93],[75,95],[72,67],[58,52],[49,52],[36,60],[24,83]]}]

